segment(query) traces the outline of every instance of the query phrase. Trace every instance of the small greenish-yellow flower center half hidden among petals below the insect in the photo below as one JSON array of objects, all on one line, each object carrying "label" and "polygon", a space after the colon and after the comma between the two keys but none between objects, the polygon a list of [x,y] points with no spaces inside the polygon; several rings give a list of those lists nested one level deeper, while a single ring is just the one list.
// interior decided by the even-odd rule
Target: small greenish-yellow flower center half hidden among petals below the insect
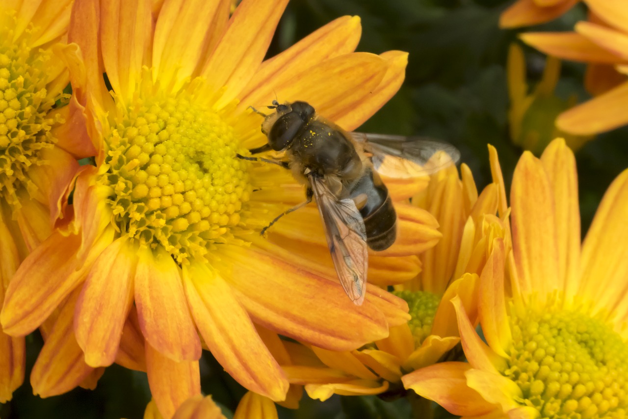
[{"label": "small greenish-yellow flower center half hidden among petals below the insect", "polygon": [[393,291],[393,294],[408,303],[409,313],[412,316],[408,321],[408,326],[414,337],[414,347],[418,348],[431,334],[441,296],[427,291]]}]

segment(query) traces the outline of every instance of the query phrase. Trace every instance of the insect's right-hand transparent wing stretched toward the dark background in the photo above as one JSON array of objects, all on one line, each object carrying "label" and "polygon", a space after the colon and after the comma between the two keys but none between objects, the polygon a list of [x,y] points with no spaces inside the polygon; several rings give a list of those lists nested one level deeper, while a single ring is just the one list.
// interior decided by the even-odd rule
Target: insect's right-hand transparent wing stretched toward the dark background
[{"label": "insect's right-hand transparent wing stretched toward the dark background", "polygon": [[352,137],[372,154],[375,170],[387,177],[420,177],[455,165],[460,152],[450,143],[426,137],[366,134]]}]

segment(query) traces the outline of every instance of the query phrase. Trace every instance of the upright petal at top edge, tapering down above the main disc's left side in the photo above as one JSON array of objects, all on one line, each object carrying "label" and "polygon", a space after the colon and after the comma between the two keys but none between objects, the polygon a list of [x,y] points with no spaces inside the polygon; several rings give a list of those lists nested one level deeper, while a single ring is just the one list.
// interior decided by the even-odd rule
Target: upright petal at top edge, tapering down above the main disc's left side
[{"label": "upright petal at top edge, tapering down above the main disc's left side", "polygon": [[107,77],[122,103],[130,103],[141,79],[144,54],[152,33],[149,0],[100,3],[100,48]]}]

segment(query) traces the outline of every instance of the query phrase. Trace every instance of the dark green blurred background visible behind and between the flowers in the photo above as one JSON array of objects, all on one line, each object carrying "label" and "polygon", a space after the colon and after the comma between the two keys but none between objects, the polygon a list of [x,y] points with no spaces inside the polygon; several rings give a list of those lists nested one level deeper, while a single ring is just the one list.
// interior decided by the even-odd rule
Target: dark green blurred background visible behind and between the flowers
[{"label": "dark green blurred background visible behind and between the flowers", "polygon": [[[500,0],[293,0],[279,25],[269,56],[345,14],[362,18],[359,51],[410,53],[406,82],[399,93],[360,131],[429,135],[456,145],[462,162],[474,172],[478,187],[490,182],[487,143],[499,151],[506,186],[522,150],[512,145],[507,125],[506,55],[515,30],[497,27],[510,1]],[[585,18],[577,6],[559,20],[533,30],[571,30]],[[524,48],[528,82],[541,77],[544,56]],[[565,63],[557,92],[567,98],[588,96],[582,88],[583,64]],[[612,179],[628,166],[625,128],[598,136],[576,154],[583,232]],[[141,418],[150,394],[146,374],[122,367],[107,369],[95,391],[74,391],[48,399],[32,395],[28,374],[41,348],[41,337],[27,339],[26,383],[13,401],[0,406],[0,417]],[[201,360],[202,388],[225,410],[233,411],[244,394],[208,352]],[[281,408],[283,418],[396,418],[411,415],[406,400],[333,397],[325,403],[304,399],[299,411]],[[437,411],[437,416],[443,411]]]}]

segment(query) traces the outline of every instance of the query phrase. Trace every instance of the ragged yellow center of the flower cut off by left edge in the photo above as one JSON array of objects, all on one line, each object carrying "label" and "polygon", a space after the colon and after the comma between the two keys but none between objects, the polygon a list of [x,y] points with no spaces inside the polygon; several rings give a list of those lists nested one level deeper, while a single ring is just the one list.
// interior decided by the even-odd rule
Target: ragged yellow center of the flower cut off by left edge
[{"label": "ragged yellow center of the flower cut off by left edge", "polygon": [[0,199],[18,208],[18,196],[36,188],[29,167],[45,164],[39,151],[57,142],[50,129],[63,121],[48,113],[63,95],[46,91],[50,51],[31,50],[28,33],[14,42],[13,33],[13,26],[0,28]]}]

